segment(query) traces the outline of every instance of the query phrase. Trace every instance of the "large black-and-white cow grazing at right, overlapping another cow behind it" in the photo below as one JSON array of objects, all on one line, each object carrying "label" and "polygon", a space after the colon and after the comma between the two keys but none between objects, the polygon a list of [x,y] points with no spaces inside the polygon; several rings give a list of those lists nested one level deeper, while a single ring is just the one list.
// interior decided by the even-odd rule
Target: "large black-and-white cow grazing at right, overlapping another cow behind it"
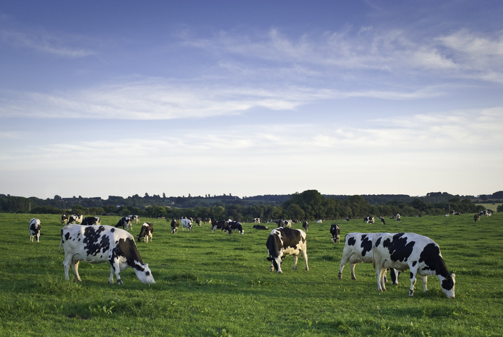
[{"label": "large black-and-white cow grazing at right, overlapping another cow behind it", "polygon": [[414,296],[416,276],[420,274],[423,292],[427,291],[427,276],[436,275],[442,292],[454,298],[456,275],[449,273],[440,247],[429,237],[415,233],[376,233],[372,245],[378,291],[386,290],[383,281],[386,268],[410,269],[410,297]]}]

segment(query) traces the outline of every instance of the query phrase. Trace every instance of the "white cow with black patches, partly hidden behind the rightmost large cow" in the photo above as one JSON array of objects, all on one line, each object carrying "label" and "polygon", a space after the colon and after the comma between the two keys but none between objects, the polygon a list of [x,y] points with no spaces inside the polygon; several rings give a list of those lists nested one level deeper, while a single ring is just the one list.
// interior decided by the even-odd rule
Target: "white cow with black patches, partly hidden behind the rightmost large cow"
[{"label": "white cow with black patches, partly hidden behind the rightmost large cow", "polygon": [[[356,280],[355,266],[358,263],[372,263],[374,256],[372,251],[372,239],[374,233],[348,233],[344,237],[344,249],[342,250],[342,258],[339,265],[339,279],[342,279],[342,269],[349,261],[349,269],[351,270],[351,279]],[[398,284],[399,271],[391,269],[391,281],[393,284]],[[386,280],[386,273],[384,274]]]}]

